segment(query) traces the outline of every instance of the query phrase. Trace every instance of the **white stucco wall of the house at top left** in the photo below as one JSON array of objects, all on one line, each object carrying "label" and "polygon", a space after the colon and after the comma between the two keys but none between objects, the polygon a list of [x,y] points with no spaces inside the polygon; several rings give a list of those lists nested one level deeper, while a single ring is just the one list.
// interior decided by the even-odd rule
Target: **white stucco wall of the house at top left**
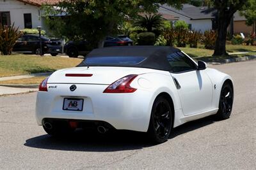
[{"label": "white stucco wall of the house at top left", "polygon": [[39,10],[37,6],[24,4],[15,0],[0,0],[0,11],[10,11],[10,20],[15,27],[24,29],[24,13],[31,13],[32,27],[36,28],[41,25],[39,19]]}]

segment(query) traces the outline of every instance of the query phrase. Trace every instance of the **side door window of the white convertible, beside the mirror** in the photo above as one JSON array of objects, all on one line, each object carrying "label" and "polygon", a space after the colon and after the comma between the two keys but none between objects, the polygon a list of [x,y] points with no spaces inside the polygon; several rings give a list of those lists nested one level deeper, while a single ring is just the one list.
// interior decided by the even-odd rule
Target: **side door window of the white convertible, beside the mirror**
[{"label": "side door window of the white convertible, beside the mirror", "polygon": [[172,67],[172,73],[192,71],[196,69],[196,64],[182,52],[170,53],[167,55],[167,60]]}]

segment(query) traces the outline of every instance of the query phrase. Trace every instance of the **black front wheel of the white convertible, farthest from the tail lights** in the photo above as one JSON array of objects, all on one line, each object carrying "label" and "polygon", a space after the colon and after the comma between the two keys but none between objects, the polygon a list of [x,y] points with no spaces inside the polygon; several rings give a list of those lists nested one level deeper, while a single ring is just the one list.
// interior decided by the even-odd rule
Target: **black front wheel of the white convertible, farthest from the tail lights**
[{"label": "black front wheel of the white convertible, farthest from the tail lights", "polygon": [[224,83],[221,88],[219,110],[216,117],[225,120],[230,117],[234,100],[234,92],[230,83]]}]

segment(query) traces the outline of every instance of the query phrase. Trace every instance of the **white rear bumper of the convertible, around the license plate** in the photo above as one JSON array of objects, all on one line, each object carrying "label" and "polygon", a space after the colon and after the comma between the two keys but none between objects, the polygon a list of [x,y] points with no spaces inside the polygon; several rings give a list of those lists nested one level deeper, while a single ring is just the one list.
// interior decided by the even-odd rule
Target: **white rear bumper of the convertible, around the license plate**
[{"label": "white rear bumper of the convertible, around the license plate", "polygon": [[[152,108],[151,92],[138,89],[131,94],[104,94],[108,85],[79,84],[74,92],[67,84],[51,86],[57,87],[37,94],[38,125],[42,125],[44,118],[94,120],[107,122],[115,129],[147,132]],[[62,110],[64,97],[84,99],[83,111]]]}]

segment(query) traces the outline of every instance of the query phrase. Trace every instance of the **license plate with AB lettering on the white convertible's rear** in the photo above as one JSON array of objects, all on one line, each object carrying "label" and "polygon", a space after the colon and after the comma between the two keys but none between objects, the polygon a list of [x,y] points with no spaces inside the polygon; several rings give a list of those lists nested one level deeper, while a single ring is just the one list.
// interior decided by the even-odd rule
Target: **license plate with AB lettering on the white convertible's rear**
[{"label": "license plate with AB lettering on the white convertible's rear", "polygon": [[64,98],[63,110],[83,111],[84,99]]}]

